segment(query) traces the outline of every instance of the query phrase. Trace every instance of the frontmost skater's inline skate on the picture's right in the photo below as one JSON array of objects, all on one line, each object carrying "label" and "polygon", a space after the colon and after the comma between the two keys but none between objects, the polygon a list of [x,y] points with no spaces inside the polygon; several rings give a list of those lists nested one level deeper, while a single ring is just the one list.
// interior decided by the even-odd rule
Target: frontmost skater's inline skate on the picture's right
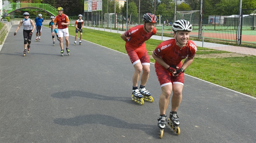
[{"label": "frontmost skater's inline skate on the picture's right", "polygon": [[167,120],[167,123],[171,128],[176,132],[177,135],[180,135],[180,121],[178,120],[179,116],[177,115],[177,112],[170,112],[169,119]]}]

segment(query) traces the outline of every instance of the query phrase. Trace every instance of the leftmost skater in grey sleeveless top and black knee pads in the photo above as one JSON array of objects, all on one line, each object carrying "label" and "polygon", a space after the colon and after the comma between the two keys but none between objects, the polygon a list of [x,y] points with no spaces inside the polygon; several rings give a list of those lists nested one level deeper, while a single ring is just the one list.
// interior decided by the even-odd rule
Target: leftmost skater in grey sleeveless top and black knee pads
[{"label": "leftmost skater in grey sleeveless top and black knee pads", "polygon": [[28,52],[30,50],[30,44],[31,44],[31,38],[33,35],[33,31],[35,30],[35,24],[32,21],[32,19],[29,18],[29,13],[25,12],[23,13],[24,19],[20,21],[20,24],[18,25],[17,29],[14,32],[14,36],[16,36],[18,30],[20,29],[20,26],[23,24],[23,37],[24,37],[24,57],[26,56],[27,53],[27,48]]}]

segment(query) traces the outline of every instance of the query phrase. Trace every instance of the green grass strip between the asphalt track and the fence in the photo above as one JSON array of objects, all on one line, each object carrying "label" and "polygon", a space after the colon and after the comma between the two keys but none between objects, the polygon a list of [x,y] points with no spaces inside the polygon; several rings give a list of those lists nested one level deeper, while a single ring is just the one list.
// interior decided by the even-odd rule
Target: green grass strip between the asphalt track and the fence
[{"label": "green grass strip between the asphalt track and the fence", "polygon": [[[69,26],[69,34],[75,36],[75,28]],[[120,34],[93,29],[83,29],[82,39],[126,53],[125,42]],[[161,40],[146,41],[149,55]],[[197,55],[230,53],[226,51],[197,47]],[[151,57],[150,61],[154,63]],[[199,58],[186,69],[186,74],[256,97],[256,56],[228,58]],[[200,88],[200,87],[198,87]]]}]

